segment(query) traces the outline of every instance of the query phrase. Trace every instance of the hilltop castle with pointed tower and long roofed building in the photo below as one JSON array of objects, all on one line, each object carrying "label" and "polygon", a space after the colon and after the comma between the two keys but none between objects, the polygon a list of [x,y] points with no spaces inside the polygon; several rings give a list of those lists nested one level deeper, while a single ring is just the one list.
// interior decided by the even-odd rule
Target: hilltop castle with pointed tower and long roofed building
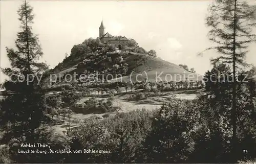
[{"label": "hilltop castle with pointed tower and long roofed building", "polygon": [[125,36],[112,36],[110,33],[105,33],[105,26],[103,25],[103,20],[101,21],[100,27],[99,27],[99,39],[102,43],[109,43],[109,44],[115,44],[118,46],[119,49],[121,49],[121,45],[125,45],[129,39],[127,39]]}]

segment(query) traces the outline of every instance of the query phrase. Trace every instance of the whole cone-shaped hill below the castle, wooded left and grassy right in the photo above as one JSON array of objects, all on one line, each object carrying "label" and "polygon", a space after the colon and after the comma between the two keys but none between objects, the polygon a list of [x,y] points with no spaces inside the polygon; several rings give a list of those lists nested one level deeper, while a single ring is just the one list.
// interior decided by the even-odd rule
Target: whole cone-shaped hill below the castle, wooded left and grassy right
[{"label": "whole cone-shaped hill below the castle, wooded left and grassy right", "polygon": [[[155,81],[156,74],[161,73],[163,81],[175,80],[174,78],[170,79],[170,75],[174,77],[176,74],[185,76],[194,74],[181,66],[158,58],[154,50],[144,50],[134,39],[129,40],[126,45],[121,46],[121,50],[118,50],[113,44],[103,44],[99,39],[93,38],[74,45],[71,54],[66,54],[66,58],[53,69],[50,69],[47,74],[63,77],[67,74],[73,75],[75,73],[79,76],[95,72],[102,75],[100,77],[111,74],[114,79],[115,75],[122,75],[124,81],[129,81],[128,77],[131,73],[144,73],[143,78],[148,78],[148,81]],[[165,78],[166,75],[168,75],[168,79]],[[197,74],[194,75],[200,77]],[[106,80],[111,79],[106,78]],[[58,78],[55,84],[73,82],[62,81]]]}]

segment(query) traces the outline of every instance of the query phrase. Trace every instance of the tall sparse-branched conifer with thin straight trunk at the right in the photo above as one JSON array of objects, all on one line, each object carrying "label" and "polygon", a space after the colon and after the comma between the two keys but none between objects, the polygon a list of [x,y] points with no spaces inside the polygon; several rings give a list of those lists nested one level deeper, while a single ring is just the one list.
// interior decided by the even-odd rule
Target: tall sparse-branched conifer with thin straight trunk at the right
[{"label": "tall sparse-branched conifer with thin straight trunk at the right", "polygon": [[[255,6],[245,1],[216,0],[209,9],[206,17],[206,25],[211,29],[208,33],[209,40],[217,43],[217,46],[206,50],[217,50],[219,57],[211,59],[214,64],[217,61],[232,65],[232,145],[233,153],[236,153],[237,143],[237,73],[248,66],[244,61],[248,52],[248,44],[256,41],[256,35],[252,34],[255,24]],[[236,157],[236,154],[234,154]]]}]

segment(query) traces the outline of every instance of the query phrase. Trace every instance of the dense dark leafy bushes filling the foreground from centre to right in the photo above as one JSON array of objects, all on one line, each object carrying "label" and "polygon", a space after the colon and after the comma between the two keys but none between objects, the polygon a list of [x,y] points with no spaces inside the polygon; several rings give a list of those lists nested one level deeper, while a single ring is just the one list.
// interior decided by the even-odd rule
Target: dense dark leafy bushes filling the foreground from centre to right
[{"label": "dense dark leafy bushes filling the foreground from centre to right", "polygon": [[[256,129],[252,114],[255,106],[242,99],[238,104],[245,112],[239,118],[242,122],[238,124],[240,154],[237,158],[253,159]],[[103,121],[86,120],[70,135],[83,149],[112,151],[97,157],[87,154],[80,157],[80,162],[230,162],[233,158],[230,154],[232,126],[230,110],[225,109],[221,99],[215,99],[214,95],[201,96],[195,101],[174,98],[160,110],[120,113]],[[249,153],[243,153],[245,149]],[[76,159],[69,158],[71,161]]]}]

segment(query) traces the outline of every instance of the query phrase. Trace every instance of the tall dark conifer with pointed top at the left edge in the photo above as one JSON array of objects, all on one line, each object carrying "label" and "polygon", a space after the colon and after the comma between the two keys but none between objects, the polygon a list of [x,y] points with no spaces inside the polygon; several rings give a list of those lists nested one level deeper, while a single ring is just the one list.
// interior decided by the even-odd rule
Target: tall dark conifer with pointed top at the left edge
[{"label": "tall dark conifer with pointed top at the left edge", "polygon": [[17,13],[21,22],[17,50],[6,48],[11,68],[2,69],[10,77],[4,85],[16,92],[0,103],[0,125],[6,131],[2,142],[9,144],[35,143],[34,133],[44,121],[45,110],[45,93],[37,79],[47,65],[38,62],[43,53],[32,33],[32,7],[25,1]]}]

